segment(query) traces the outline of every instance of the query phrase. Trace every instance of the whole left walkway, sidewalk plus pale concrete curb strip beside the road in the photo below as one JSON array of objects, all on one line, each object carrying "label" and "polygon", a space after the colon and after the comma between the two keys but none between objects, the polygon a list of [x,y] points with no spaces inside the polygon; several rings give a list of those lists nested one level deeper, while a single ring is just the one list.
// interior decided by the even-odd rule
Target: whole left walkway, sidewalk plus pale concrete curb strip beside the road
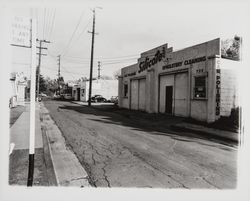
[{"label": "whole left walkway, sidewalk plus pale concrete curb strip beside the road", "polygon": [[[49,116],[36,103],[34,186],[90,186],[88,175]],[[30,104],[10,128],[9,184],[27,185]]]}]

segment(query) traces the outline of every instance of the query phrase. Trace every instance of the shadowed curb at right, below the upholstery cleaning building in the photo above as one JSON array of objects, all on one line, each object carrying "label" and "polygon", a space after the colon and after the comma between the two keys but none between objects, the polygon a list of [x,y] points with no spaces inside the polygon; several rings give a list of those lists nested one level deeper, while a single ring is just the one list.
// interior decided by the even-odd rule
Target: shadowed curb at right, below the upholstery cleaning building
[{"label": "shadowed curb at right, below the upholstery cleaning building", "polygon": [[[175,130],[175,131],[192,132],[192,133],[198,134],[199,136],[204,137],[204,138],[212,137],[212,138],[215,138],[218,140],[223,140],[226,142],[231,142],[231,143],[236,143],[236,144],[239,143],[239,134],[237,134],[236,137],[232,137],[232,136],[216,134],[216,133],[209,132],[206,130],[189,128],[189,127],[185,127],[185,126],[181,126],[181,125],[171,125],[170,128]],[[203,134],[205,136],[203,136],[201,134]]]}]

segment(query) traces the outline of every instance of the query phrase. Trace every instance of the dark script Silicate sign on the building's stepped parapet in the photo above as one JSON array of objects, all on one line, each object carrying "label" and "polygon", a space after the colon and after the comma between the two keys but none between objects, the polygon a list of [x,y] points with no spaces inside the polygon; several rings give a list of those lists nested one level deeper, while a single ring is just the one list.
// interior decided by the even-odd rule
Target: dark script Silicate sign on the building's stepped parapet
[{"label": "dark script Silicate sign on the building's stepped parapet", "polygon": [[162,48],[162,52],[160,52],[160,50],[157,50],[153,58],[149,59],[149,57],[146,57],[144,61],[140,62],[138,73],[141,73],[150,68],[151,66],[157,64],[158,62],[162,61],[164,57],[165,47]]}]

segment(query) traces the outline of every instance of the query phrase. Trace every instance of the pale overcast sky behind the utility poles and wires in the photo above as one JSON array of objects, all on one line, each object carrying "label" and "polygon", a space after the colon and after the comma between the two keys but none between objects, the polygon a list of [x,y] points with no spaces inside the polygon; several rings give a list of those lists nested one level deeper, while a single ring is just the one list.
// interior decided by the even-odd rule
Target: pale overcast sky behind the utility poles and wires
[{"label": "pale overcast sky behind the utility poles and wires", "polygon": [[[218,37],[233,38],[247,32],[247,1],[51,1],[13,3],[13,16],[37,19],[38,39],[49,40],[41,58],[41,74],[58,75],[61,55],[64,80],[89,77],[92,9],[96,8],[94,77],[98,61],[101,75],[113,76],[136,63],[140,53],[168,43],[174,51]],[[71,2],[71,3],[70,3]],[[101,7],[101,8],[99,8]],[[29,76],[30,49],[12,47],[12,69]]]}]

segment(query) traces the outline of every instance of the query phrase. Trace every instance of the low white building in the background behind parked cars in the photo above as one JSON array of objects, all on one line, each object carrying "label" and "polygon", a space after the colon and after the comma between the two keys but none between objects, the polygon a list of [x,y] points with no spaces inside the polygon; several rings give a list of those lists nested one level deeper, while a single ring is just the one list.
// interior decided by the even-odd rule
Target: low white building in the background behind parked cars
[{"label": "low white building in the background behind parked cars", "polygon": [[[73,86],[72,97],[78,101],[88,101],[89,98],[89,81],[83,80]],[[101,95],[107,100],[112,96],[118,95],[118,81],[109,79],[94,79],[92,81],[92,96]]]}]

